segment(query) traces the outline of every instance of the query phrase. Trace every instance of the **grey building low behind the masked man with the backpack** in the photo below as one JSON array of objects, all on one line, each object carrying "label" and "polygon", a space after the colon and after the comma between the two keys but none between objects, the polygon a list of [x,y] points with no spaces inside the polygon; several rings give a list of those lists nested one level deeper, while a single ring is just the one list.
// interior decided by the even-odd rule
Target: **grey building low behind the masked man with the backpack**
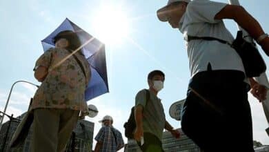
[{"label": "grey building low behind the masked man with the backpack", "polygon": [[[171,135],[170,132],[163,132],[163,150],[166,152],[200,152],[199,147],[190,140],[182,131],[179,129],[181,137],[179,139]],[[137,142],[135,140],[128,140],[128,144],[125,147],[125,152],[141,152]]]}]

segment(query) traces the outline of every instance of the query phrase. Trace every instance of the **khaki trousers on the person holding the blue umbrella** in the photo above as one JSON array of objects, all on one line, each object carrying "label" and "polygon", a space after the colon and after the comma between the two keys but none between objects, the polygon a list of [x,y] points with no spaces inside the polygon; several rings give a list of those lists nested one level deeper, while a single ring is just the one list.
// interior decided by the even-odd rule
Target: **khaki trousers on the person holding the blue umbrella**
[{"label": "khaki trousers on the person holding the blue umbrella", "polygon": [[31,152],[62,152],[77,125],[79,111],[59,108],[34,109]]}]

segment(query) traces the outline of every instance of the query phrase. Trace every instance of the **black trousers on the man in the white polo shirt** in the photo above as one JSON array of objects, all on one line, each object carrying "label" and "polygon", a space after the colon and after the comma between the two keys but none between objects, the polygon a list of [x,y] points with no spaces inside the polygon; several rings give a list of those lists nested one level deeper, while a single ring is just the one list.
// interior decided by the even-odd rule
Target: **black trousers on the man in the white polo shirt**
[{"label": "black trousers on the man in the white polo shirt", "polygon": [[181,127],[203,151],[254,151],[244,77],[235,70],[214,70],[190,80]]}]

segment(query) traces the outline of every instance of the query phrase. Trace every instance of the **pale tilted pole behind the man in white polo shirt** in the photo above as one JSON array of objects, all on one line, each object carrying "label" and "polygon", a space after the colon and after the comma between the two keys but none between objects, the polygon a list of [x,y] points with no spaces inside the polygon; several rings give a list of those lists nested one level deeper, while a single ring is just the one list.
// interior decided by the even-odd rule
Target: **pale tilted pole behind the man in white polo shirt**
[{"label": "pale tilted pole behind the man in white polo shirt", "polygon": [[[240,5],[239,0],[229,0],[229,3],[232,5],[236,5],[236,6]],[[253,41],[252,37],[249,36],[248,32],[246,32],[246,30],[241,28],[238,24],[237,24],[237,28],[239,30],[243,31],[243,36],[246,37],[245,38],[246,41]],[[262,73],[259,77],[255,77],[255,80],[259,84],[266,86],[266,88],[268,90],[267,92],[269,92],[269,82],[268,82],[268,78],[266,76],[266,73]],[[269,93],[267,93],[267,95],[266,95],[266,100],[262,101],[261,104],[263,106],[263,111],[264,111],[264,114],[266,115],[266,120],[267,120],[267,123],[269,126]],[[266,133],[269,136],[269,127],[266,129]]]}]

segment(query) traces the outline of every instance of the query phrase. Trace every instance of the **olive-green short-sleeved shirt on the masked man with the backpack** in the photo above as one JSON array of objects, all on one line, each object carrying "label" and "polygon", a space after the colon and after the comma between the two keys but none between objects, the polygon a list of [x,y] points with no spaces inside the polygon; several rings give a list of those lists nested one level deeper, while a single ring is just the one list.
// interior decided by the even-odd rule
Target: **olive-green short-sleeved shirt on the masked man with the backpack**
[{"label": "olive-green short-sleeved shirt on the masked man with the backpack", "polygon": [[150,91],[150,99],[146,101],[146,91],[146,89],[143,89],[137,93],[135,106],[143,106],[143,132],[152,133],[161,140],[166,124],[163,104],[161,104],[161,99],[152,93],[152,91]]}]

